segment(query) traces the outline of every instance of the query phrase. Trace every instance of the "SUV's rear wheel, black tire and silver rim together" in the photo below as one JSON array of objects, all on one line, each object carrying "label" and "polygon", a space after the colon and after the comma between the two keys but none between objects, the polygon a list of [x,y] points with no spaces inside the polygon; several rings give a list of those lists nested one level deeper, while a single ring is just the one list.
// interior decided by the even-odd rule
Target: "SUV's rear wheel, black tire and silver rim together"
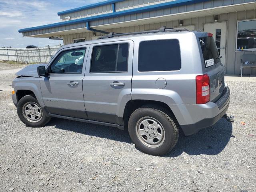
[{"label": "SUV's rear wheel, black tire and silver rim together", "polygon": [[142,106],[135,110],[130,116],[128,131],[136,147],[152,155],[168,153],[179,136],[174,117],[160,106]]}]

